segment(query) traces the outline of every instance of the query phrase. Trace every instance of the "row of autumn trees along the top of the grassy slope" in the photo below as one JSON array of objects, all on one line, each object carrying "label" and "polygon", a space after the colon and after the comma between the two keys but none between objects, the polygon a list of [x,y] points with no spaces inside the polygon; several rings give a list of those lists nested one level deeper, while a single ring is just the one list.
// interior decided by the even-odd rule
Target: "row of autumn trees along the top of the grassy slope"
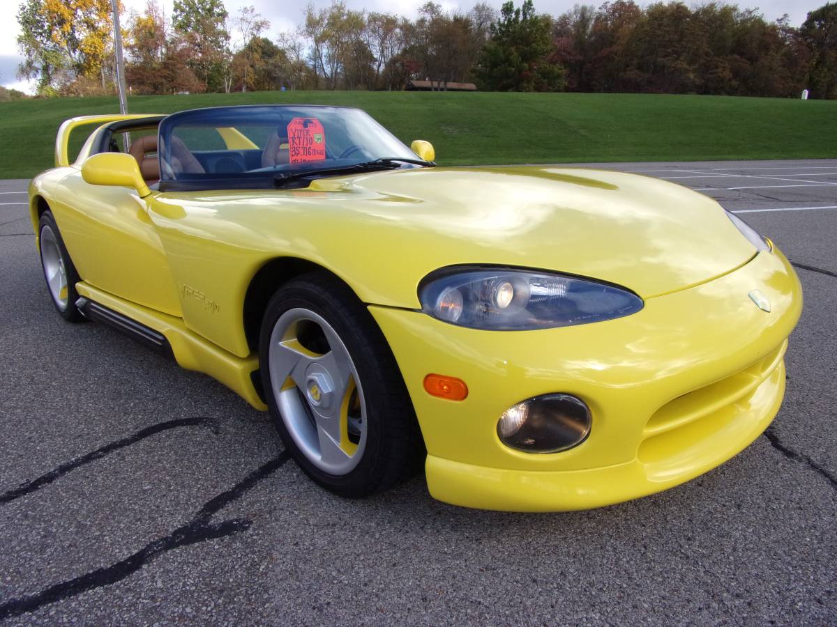
[{"label": "row of autumn trees along the top of the grassy slope", "polygon": [[[113,93],[110,0],[25,0],[18,23],[18,75],[34,79],[39,95]],[[149,0],[121,23],[133,94],[395,90],[424,80],[439,90],[473,82],[494,91],[798,97],[809,89],[837,98],[837,3],[798,27],[735,4],[633,0],[556,17],[531,0],[499,12],[429,2],[414,19],[333,0],[308,5],[276,38],[253,7],[231,15],[223,0],[175,0],[170,16]]]}]

